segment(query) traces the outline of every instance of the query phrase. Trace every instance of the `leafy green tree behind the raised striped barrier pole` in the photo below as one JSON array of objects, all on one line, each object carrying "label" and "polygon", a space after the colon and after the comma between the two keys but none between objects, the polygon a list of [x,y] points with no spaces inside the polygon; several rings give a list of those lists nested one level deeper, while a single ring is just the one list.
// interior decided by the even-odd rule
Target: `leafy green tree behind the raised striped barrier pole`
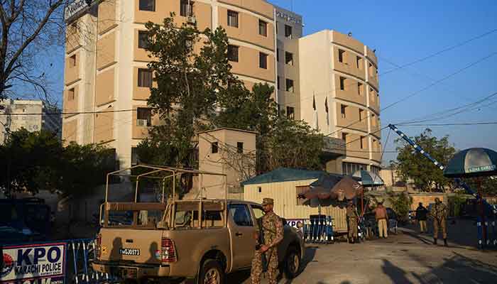
[{"label": "leafy green tree behind the raised striped barrier pole", "polygon": [[[395,140],[395,143],[400,145],[401,141],[399,138]],[[413,141],[444,165],[447,165],[449,159],[456,152],[455,148],[449,145],[448,136],[437,139],[432,136],[430,129],[426,129],[420,136],[414,137]],[[397,160],[393,162],[393,166],[403,180],[412,178],[417,188],[428,192],[434,188],[436,191],[443,192],[445,187],[451,185],[451,180],[444,177],[443,171],[424,155],[415,151],[413,146],[408,144],[398,146],[397,151]]]}]

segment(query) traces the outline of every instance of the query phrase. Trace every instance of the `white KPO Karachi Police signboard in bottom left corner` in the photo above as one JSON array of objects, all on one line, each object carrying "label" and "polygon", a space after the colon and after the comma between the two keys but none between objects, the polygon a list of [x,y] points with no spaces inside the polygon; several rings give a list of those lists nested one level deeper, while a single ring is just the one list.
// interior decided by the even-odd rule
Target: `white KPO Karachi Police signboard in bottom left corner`
[{"label": "white KPO Karachi Police signboard in bottom left corner", "polygon": [[4,247],[0,283],[63,284],[65,243]]}]

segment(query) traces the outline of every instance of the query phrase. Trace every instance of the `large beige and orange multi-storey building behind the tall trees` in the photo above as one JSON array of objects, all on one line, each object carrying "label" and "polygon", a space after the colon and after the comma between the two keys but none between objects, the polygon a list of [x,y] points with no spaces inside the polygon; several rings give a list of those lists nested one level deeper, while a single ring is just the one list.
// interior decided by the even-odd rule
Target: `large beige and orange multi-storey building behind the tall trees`
[{"label": "large beige and orange multi-storey building behind the tall trees", "polygon": [[[147,70],[150,58],[141,48],[141,32],[146,22],[160,23],[171,12],[178,25],[196,23],[200,30],[222,26],[229,37],[232,72],[246,87],[251,89],[262,82],[276,88],[277,74],[281,74],[294,84],[288,85],[293,99],[275,92],[275,100],[295,104],[299,90],[296,48],[302,34],[302,19],[293,20],[295,14],[278,9],[280,16],[276,16],[275,7],[263,0],[94,1],[90,9],[74,6],[65,13],[64,111],[98,113],[66,115],[62,134],[65,141],[116,148],[121,167],[131,165],[133,147],[146,138],[148,127],[158,122],[147,109],[152,82]],[[289,14],[293,14],[292,18],[287,17]],[[281,26],[278,33],[277,23]],[[290,26],[291,34],[287,28]],[[291,40],[293,64],[290,60],[277,67],[275,45],[281,42],[290,48]],[[287,67],[291,71],[285,72]],[[294,108],[288,115],[295,114]]]}]

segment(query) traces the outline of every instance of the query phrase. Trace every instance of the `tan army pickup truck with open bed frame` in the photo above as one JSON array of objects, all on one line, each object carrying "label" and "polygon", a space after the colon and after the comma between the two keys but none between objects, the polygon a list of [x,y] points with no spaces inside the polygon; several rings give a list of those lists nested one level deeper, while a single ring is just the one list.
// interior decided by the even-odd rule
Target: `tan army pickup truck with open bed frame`
[{"label": "tan army pickup truck with open bed frame", "polygon": [[[190,278],[202,284],[224,283],[226,273],[251,268],[256,219],[264,214],[260,204],[226,199],[103,206],[94,271],[125,280]],[[109,214],[123,211],[133,212],[131,224],[109,223]],[[287,278],[299,273],[304,252],[300,232],[285,225],[278,258]]]}]

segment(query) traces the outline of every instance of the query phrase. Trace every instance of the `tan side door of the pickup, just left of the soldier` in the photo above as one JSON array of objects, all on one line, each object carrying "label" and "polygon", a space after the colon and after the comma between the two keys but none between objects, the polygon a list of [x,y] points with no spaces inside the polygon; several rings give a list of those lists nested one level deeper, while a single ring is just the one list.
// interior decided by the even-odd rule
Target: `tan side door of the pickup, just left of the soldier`
[{"label": "tan side door of the pickup, just left of the soldier", "polygon": [[256,227],[250,209],[246,204],[230,204],[229,216],[233,268],[248,268],[256,249],[256,240],[253,239]]}]

